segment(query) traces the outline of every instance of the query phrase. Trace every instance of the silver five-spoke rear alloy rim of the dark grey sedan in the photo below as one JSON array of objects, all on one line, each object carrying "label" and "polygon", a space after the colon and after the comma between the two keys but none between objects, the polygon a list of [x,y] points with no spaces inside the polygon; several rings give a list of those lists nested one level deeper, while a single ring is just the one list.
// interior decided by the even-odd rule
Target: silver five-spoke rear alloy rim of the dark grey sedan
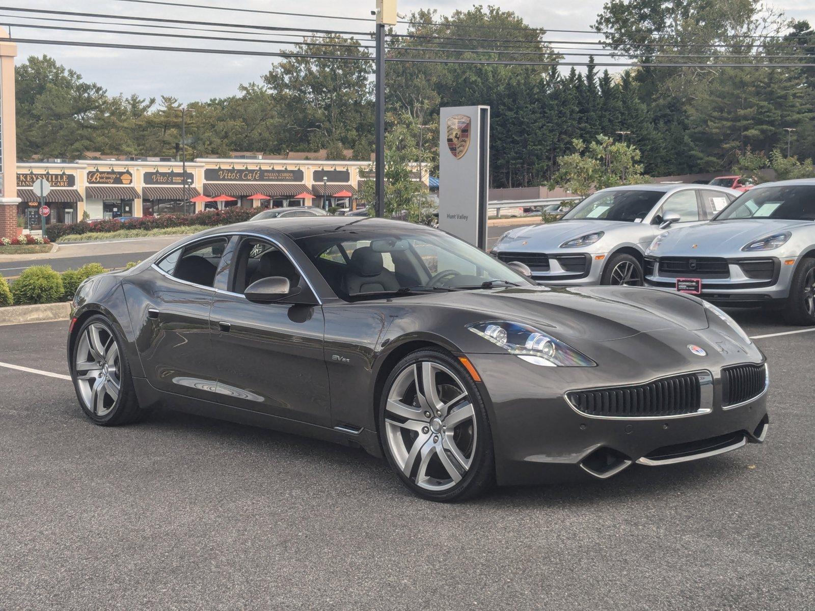
[{"label": "silver five-spoke rear alloy rim of the dark grey sedan", "polygon": [[121,390],[119,346],[108,327],[91,323],[82,332],[74,371],[86,409],[98,417],[108,415]]}]

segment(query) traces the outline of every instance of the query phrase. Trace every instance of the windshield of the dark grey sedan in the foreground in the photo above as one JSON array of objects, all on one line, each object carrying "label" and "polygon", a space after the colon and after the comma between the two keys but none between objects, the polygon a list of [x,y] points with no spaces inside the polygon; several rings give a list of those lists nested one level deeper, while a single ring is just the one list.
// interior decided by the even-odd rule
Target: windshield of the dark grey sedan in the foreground
[{"label": "windshield of the dark grey sedan in the foreground", "polygon": [[297,245],[346,301],[535,286],[482,250],[421,226],[366,228],[362,219],[346,231],[311,235],[297,240]]}]

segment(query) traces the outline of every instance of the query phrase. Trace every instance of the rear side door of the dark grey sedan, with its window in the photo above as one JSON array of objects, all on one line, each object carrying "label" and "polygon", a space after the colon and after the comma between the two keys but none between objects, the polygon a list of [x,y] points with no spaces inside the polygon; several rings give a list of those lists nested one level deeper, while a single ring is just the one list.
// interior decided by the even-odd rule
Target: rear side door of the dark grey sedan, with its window
[{"label": "rear side door of the dark grey sedan, with its window", "polygon": [[178,248],[139,275],[138,284],[124,284],[136,347],[154,388],[209,401],[216,397],[209,307],[226,247],[227,238],[221,237]]}]

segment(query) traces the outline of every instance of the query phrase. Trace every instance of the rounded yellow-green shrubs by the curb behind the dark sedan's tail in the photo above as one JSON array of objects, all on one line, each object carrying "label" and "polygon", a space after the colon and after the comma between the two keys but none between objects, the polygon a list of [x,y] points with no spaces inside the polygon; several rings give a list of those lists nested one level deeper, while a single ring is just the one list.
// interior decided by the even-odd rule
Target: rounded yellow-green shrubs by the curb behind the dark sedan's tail
[{"label": "rounded yellow-green shrubs by the curb behind the dark sedan's tail", "polygon": [[[128,264],[128,267],[133,265]],[[88,263],[78,270],[65,270],[62,274],[52,270],[51,266],[32,266],[20,274],[11,288],[7,280],[0,276],[0,306],[71,301],[83,280],[105,271],[99,263]]]}]

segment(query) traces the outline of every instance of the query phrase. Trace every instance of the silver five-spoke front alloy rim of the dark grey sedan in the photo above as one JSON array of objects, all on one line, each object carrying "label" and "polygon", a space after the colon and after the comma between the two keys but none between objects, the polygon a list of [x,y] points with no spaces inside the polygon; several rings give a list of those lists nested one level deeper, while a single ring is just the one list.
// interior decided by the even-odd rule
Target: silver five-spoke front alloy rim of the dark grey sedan
[{"label": "silver five-spoke front alloy rim of the dark grey sedan", "polygon": [[399,373],[385,404],[385,438],[405,477],[425,490],[456,486],[473,464],[474,402],[459,376],[419,361]]}]

